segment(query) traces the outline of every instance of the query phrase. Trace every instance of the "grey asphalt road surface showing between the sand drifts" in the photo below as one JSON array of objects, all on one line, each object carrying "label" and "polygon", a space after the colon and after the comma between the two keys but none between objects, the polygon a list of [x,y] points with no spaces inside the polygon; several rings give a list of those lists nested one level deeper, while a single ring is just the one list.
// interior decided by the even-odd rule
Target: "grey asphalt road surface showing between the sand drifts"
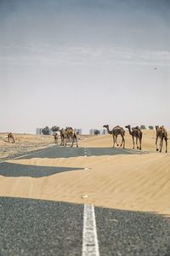
[{"label": "grey asphalt road surface showing between the sand drifts", "polygon": [[[85,154],[88,157],[139,152],[119,148],[53,147],[22,158],[76,157]],[[3,162],[0,164],[0,175],[38,178],[75,170],[61,169]],[[100,255],[170,255],[170,218],[151,212],[99,207],[95,207],[94,211]],[[82,205],[0,197],[0,212],[0,255],[82,255]]]}]

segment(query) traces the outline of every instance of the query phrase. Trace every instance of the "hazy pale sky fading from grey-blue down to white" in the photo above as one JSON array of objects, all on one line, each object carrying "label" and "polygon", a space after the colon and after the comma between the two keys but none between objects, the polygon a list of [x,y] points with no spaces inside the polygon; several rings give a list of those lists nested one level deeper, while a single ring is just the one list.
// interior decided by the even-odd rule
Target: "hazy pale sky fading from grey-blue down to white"
[{"label": "hazy pale sky fading from grey-blue down to white", "polygon": [[170,1],[0,0],[0,131],[170,129]]}]

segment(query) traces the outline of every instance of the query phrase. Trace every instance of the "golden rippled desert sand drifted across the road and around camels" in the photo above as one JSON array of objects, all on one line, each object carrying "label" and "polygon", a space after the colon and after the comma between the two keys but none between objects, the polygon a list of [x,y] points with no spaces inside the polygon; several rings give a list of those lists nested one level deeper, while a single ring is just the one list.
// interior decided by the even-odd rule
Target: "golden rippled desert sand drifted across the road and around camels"
[{"label": "golden rippled desert sand drifted across the road and around camels", "polygon": [[[36,143],[39,148],[54,143],[53,137],[42,139],[37,136],[20,135],[18,138],[20,140],[16,137],[15,148],[19,145],[26,147],[26,143],[32,143],[32,148]],[[127,131],[125,139],[126,148],[132,148],[132,138]],[[23,166],[65,166],[77,167],[80,170],[59,172],[48,177],[0,176],[0,195],[94,204],[96,207],[156,212],[168,216],[170,153],[164,153],[165,147],[162,153],[156,152],[155,140],[156,131],[143,131],[143,154],[7,160],[9,163]],[[4,145],[3,139],[1,141],[5,148],[7,143]],[[109,134],[83,136],[78,143],[82,148],[110,148],[112,137]]]}]

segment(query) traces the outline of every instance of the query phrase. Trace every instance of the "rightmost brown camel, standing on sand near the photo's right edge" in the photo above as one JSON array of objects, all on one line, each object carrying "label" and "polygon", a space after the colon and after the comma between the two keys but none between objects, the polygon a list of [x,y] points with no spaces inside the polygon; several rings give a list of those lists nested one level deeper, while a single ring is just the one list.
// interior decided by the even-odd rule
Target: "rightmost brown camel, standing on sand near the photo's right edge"
[{"label": "rightmost brown camel, standing on sand near the photo's right edge", "polygon": [[[157,139],[158,137],[160,138],[160,150],[157,148]],[[158,125],[156,125],[156,151],[159,150],[159,152],[161,152],[162,146],[163,146],[163,139],[165,140],[166,143],[166,150],[165,152],[167,153],[167,131],[164,128],[163,125],[161,125],[160,127]]]}]

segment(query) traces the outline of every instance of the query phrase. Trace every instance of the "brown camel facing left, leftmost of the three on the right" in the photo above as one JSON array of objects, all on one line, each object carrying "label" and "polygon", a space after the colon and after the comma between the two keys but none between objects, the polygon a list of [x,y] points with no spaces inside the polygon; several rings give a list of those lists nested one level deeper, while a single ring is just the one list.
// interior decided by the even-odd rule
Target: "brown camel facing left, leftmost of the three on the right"
[{"label": "brown camel facing left, leftmost of the three on the right", "polygon": [[122,137],[122,143],[121,143],[120,147],[122,147],[122,145],[123,145],[123,148],[125,148],[125,138],[124,138],[125,131],[121,126],[116,125],[115,127],[113,127],[113,129],[111,131],[109,130],[109,125],[103,125],[103,127],[105,127],[107,129],[108,133],[111,134],[113,137],[113,148],[115,148],[115,143],[117,146],[119,146],[118,143],[116,142],[118,135],[121,135],[121,137]]}]

